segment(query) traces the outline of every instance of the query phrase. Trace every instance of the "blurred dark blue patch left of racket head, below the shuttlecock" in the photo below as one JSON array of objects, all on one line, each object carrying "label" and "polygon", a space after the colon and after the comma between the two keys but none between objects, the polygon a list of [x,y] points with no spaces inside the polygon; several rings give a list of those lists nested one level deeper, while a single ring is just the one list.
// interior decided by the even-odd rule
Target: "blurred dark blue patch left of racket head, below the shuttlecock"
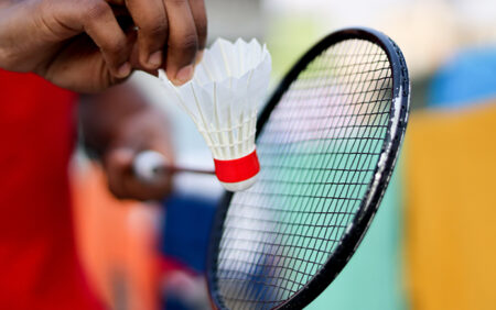
[{"label": "blurred dark blue patch left of racket head, below the shuttlecock", "polygon": [[197,273],[205,272],[208,237],[217,201],[173,195],[165,202],[161,252]]}]

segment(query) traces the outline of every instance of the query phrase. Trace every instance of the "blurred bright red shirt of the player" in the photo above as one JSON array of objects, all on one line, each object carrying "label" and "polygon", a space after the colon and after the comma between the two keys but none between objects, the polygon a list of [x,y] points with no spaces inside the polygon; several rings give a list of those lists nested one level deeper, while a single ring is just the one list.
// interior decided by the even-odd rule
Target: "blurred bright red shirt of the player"
[{"label": "blurred bright red shirt of the player", "polygon": [[76,256],[75,95],[0,70],[0,309],[100,309]]}]

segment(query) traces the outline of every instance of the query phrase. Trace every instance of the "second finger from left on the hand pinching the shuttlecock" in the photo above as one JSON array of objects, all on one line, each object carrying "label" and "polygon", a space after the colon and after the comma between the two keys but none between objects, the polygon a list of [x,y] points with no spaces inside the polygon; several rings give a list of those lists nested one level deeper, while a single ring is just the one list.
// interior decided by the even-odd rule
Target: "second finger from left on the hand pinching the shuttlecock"
[{"label": "second finger from left on the hand pinching the shuttlecock", "polygon": [[168,38],[168,16],[162,0],[128,0],[128,10],[138,26],[139,64],[148,70],[163,62]]}]

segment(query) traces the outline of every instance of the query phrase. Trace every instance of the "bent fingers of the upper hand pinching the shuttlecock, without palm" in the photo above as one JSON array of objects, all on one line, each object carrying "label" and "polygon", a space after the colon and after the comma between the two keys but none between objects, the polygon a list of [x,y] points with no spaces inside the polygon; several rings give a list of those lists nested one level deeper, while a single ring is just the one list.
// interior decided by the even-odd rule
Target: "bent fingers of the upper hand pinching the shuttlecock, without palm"
[{"label": "bent fingers of the upper hand pinching the shuttlecock, without palm", "polygon": [[154,73],[160,67],[165,68],[175,85],[193,78],[207,36],[204,0],[107,1],[116,5],[126,3],[138,29],[133,46],[134,42],[120,29],[109,3],[85,1],[85,32],[98,45],[116,78],[126,78],[132,68]]}]

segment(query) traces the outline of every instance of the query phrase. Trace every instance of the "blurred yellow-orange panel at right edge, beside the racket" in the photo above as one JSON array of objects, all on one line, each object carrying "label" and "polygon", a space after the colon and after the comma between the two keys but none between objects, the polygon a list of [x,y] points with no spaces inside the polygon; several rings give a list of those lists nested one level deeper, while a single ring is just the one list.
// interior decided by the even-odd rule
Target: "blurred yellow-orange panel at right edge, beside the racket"
[{"label": "blurred yellow-orange panel at right edge, beside the racket", "polygon": [[407,132],[411,309],[496,309],[496,102],[417,114]]}]

